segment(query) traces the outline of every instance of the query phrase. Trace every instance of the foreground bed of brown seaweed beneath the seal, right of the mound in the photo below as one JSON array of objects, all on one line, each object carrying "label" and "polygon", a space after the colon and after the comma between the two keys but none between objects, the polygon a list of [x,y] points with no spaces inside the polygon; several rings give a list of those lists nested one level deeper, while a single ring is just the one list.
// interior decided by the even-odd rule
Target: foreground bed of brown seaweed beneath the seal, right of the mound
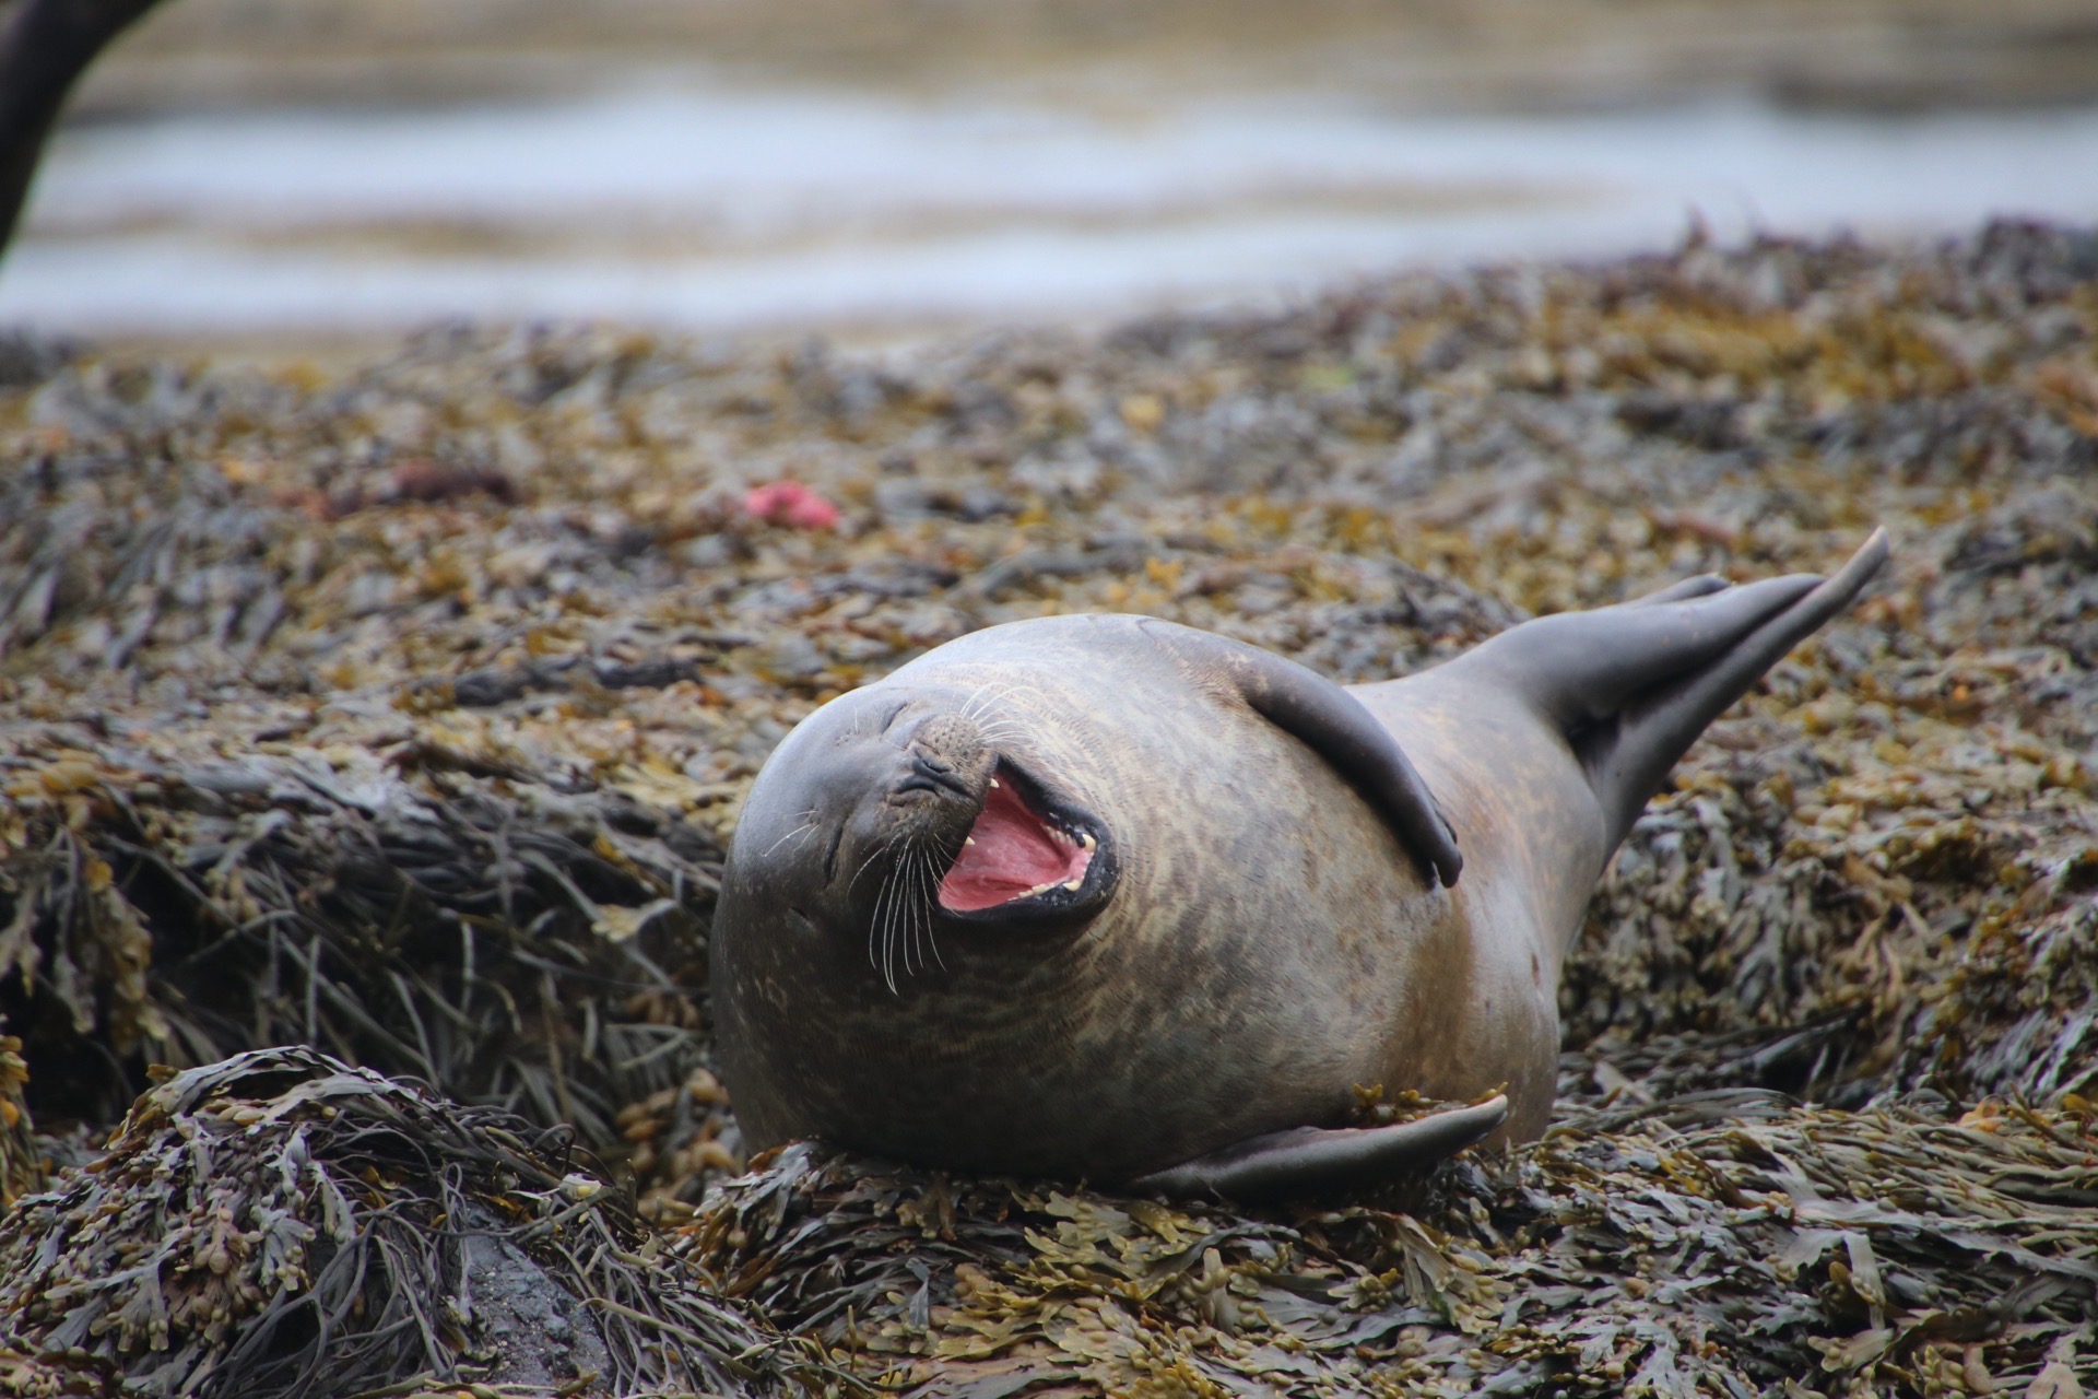
[{"label": "foreground bed of brown seaweed beneath the seal, right of the mound", "polygon": [[1691,1093],[1441,1196],[1244,1217],[795,1145],[676,1248],[923,1395],[2067,1399],[2098,1370],[2088,1105]]}]

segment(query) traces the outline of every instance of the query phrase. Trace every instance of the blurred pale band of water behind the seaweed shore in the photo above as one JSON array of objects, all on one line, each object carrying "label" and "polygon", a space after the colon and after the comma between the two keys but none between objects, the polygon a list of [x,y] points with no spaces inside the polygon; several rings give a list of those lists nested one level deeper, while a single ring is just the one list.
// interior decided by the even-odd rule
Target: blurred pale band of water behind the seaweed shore
[{"label": "blurred pale band of water behind the seaweed shore", "polygon": [[376,331],[1091,319],[1720,237],[2098,220],[2098,109],[1422,120],[1368,99],[911,101],[659,84],[67,130],[0,321]]}]

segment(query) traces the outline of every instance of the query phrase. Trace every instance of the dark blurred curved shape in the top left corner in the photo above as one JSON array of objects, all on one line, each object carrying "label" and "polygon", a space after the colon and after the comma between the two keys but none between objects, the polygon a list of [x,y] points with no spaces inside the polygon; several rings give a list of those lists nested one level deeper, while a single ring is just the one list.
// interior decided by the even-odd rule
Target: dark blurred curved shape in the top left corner
[{"label": "dark blurred curved shape in the top left corner", "polygon": [[0,4],[0,254],[73,80],[124,25],[159,0],[8,0]]}]

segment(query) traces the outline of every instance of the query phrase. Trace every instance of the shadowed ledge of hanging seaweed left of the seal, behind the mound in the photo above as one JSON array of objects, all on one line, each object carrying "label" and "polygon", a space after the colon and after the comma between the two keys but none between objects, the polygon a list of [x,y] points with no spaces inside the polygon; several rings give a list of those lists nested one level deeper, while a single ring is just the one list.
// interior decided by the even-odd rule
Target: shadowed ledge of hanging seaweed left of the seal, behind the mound
[{"label": "shadowed ledge of hanging seaweed left of the seal, behind the mound", "polygon": [[4,795],[6,1009],[84,1051],[44,1057],[55,1116],[107,1124],[147,1059],[302,1042],[604,1145],[705,1072],[694,914],[722,856],[673,812],[524,757],[491,774],[434,728],[392,753],[44,751]]}]

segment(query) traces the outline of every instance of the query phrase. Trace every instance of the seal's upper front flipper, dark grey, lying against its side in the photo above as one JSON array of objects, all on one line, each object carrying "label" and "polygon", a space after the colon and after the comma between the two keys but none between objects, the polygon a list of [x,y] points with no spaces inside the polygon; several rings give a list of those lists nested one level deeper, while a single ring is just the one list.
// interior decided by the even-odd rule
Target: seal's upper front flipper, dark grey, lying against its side
[{"label": "seal's upper front flipper, dark grey, lying against its side", "polygon": [[1435,805],[1435,793],[1385,726],[1353,694],[1294,661],[1196,631],[1143,619],[1143,631],[1175,657],[1232,686],[1246,705],[1324,757],[1376,808],[1399,841],[1425,860],[1446,889],[1464,868],[1456,833]]}]

